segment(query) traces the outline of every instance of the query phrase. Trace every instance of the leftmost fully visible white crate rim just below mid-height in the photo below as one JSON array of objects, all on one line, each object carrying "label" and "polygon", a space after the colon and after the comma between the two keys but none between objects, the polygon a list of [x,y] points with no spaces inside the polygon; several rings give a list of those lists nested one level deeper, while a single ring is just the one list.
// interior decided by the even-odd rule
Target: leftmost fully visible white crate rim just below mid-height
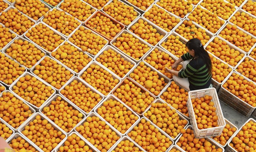
[{"label": "leftmost fully visible white crate rim just below mid-height", "polygon": [[[29,76],[31,76],[31,77],[35,77],[38,81],[41,81],[44,85],[49,86],[48,83],[46,83],[44,80],[42,80],[42,79],[39,78],[38,76],[35,76],[35,75],[31,74],[30,72],[24,72],[24,73],[17,79],[17,81],[15,80],[14,83],[9,87],[9,90],[11,90],[11,92],[12,92],[13,94],[15,94],[15,93],[13,92],[13,86],[16,85],[16,83],[20,80],[21,77],[25,77],[25,76],[27,76],[27,75],[29,75]],[[38,111],[45,103],[47,103],[48,100],[50,100],[51,97],[54,96],[54,94],[56,93],[56,90],[55,90],[54,88],[52,88],[52,90],[54,90],[54,93],[53,93],[50,97],[48,97],[48,99],[47,99],[40,107],[37,107],[37,106],[35,106],[34,104],[29,103],[29,101],[25,101],[25,100],[22,99],[19,95],[17,95],[17,97],[19,97],[20,99],[22,99],[23,101],[25,101],[26,103],[28,103],[28,104],[29,104],[32,108],[34,108],[36,111]]]}]

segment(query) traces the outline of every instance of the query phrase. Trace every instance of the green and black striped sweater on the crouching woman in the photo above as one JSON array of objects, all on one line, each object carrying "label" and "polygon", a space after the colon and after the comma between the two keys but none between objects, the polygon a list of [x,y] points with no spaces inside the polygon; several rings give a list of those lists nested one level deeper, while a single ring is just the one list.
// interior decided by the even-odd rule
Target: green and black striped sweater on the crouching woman
[{"label": "green and black striped sweater on the crouching woman", "polygon": [[194,59],[189,53],[184,54],[181,58],[184,61],[191,59],[186,69],[178,74],[180,78],[188,78],[190,90],[209,88],[211,73],[208,72],[205,61],[202,58]]}]

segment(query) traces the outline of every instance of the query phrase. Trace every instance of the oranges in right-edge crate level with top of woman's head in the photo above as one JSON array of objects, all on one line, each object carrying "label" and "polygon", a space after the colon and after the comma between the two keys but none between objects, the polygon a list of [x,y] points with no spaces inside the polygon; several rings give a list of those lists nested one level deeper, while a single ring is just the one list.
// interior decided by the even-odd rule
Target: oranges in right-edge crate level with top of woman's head
[{"label": "oranges in right-edge crate level with top of woman's head", "polygon": [[226,28],[218,35],[245,52],[248,52],[256,42],[256,39],[251,35],[246,34],[242,30],[239,30],[236,25],[231,24],[227,24]]}]

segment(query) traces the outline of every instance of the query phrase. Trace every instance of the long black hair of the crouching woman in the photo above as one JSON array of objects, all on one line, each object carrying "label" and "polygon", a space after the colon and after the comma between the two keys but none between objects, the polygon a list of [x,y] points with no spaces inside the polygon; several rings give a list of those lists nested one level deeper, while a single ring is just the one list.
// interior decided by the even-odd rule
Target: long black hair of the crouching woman
[{"label": "long black hair of the crouching woman", "polygon": [[208,72],[211,73],[211,58],[208,54],[208,52],[204,49],[204,46],[202,45],[201,41],[199,39],[190,39],[186,43],[186,47],[190,50],[194,50],[195,52],[195,60],[198,58],[201,58],[205,63],[206,67],[208,68]]}]

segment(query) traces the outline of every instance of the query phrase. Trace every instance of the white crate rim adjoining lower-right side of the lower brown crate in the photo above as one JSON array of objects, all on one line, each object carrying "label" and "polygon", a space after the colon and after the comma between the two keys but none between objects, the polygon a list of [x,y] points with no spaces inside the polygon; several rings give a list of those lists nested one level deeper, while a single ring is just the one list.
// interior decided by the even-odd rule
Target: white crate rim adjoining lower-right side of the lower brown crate
[{"label": "white crate rim adjoining lower-right side of the lower brown crate", "polygon": [[[164,104],[164,103],[166,103],[166,102],[161,101],[160,99],[156,99],[153,103],[162,103],[162,104]],[[175,110],[175,109],[174,109],[172,106],[170,106],[170,104],[168,104],[168,103],[167,103],[167,106],[169,106],[169,107],[171,108],[171,110]],[[151,107],[152,107],[152,106],[150,105],[149,108],[143,112],[143,117],[144,117],[147,121],[150,121],[151,123],[153,123],[149,118],[147,118],[147,117],[145,116],[145,113],[147,113],[147,111],[149,111]],[[175,110],[175,111],[176,111],[176,113],[177,113],[178,110]],[[179,115],[179,120],[186,120],[186,121],[187,121],[187,124],[183,127],[183,128],[186,128],[186,127],[188,126],[188,124],[189,124],[189,121],[188,121],[185,117],[183,117],[180,113],[177,113],[177,114]],[[154,123],[153,123],[153,124],[154,124]],[[159,130],[161,129],[161,128],[158,127],[156,124],[155,124],[155,126],[156,126],[156,128],[158,128]],[[161,130],[162,130],[162,129],[161,129]],[[163,134],[165,134],[165,136],[167,136],[168,138],[170,138],[170,139],[172,139],[172,140],[175,141],[175,140],[179,137],[179,135],[180,135],[181,133],[179,133],[175,138],[172,138],[169,134],[165,133],[164,131],[163,131]]]}]

